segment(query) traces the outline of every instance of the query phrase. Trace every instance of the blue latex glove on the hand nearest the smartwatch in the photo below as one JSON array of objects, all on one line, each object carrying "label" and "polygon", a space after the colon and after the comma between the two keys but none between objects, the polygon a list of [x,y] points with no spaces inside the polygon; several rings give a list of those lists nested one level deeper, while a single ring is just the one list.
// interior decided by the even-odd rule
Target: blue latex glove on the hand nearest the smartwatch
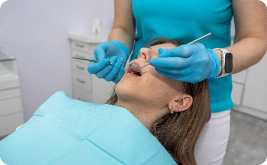
[{"label": "blue latex glove on the hand nearest the smartwatch", "polygon": [[158,73],[171,79],[197,83],[204,79],[214,79],[219,72],[218,55],[201,43],[167,50],[160,48],[158,52],[159,58],[153,58],[149,63]]}]

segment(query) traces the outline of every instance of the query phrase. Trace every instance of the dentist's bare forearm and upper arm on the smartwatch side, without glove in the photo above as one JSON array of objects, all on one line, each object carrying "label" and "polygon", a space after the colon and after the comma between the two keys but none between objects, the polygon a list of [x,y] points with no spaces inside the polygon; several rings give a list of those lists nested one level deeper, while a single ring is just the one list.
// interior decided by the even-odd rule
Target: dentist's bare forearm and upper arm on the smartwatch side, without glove
[{"label": "dentist's bare forearm and upper arm on the smartwatch side, without glove", "polygon": [[[233,0],[232,3],[235,40],[225,49],[233,54],[232,74],[235,74],[259,62],[266,53],[267,6],[261,0]],[[221,58],[221,52],[214,51]]]}]

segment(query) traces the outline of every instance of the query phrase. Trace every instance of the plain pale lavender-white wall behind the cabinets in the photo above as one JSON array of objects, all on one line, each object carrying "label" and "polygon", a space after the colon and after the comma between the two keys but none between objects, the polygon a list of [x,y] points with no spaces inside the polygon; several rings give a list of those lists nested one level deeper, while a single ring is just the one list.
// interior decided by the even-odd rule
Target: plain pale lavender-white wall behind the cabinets
[{"label": "plain pale lavender-white wall behind the cabinets", "polygon": [[72,96],[68,31],[113,22],[112,0],[7,0],[0,7],[0,47],[17,59],[25,121],[56,91]]}]

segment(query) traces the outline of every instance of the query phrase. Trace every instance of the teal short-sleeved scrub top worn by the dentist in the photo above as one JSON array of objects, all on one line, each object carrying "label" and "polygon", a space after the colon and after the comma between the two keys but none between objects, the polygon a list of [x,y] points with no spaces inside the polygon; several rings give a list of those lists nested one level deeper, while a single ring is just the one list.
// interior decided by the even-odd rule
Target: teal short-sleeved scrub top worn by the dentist
[{"label": "teal short-sleeved scrub top worn by the dentist", "polygon": [[[231,0],[132,0],[136,35],[131,60],[150,39],[167,37],[189,43],[209,32],[200,42],[206,48],[224,48],[231,43]],[[232,77],[209,80],[211,111],[234,107],[231,100]]]}]

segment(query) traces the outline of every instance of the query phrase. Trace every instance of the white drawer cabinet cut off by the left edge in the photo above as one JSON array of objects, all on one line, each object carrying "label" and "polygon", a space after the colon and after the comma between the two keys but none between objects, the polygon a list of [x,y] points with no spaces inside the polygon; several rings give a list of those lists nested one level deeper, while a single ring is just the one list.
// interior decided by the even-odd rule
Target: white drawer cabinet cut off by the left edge
[{"label": "white drawer cabinet cut off by the left edge", "polygon": [[24,123],[16,59],[0,50],[0,137]]}]

